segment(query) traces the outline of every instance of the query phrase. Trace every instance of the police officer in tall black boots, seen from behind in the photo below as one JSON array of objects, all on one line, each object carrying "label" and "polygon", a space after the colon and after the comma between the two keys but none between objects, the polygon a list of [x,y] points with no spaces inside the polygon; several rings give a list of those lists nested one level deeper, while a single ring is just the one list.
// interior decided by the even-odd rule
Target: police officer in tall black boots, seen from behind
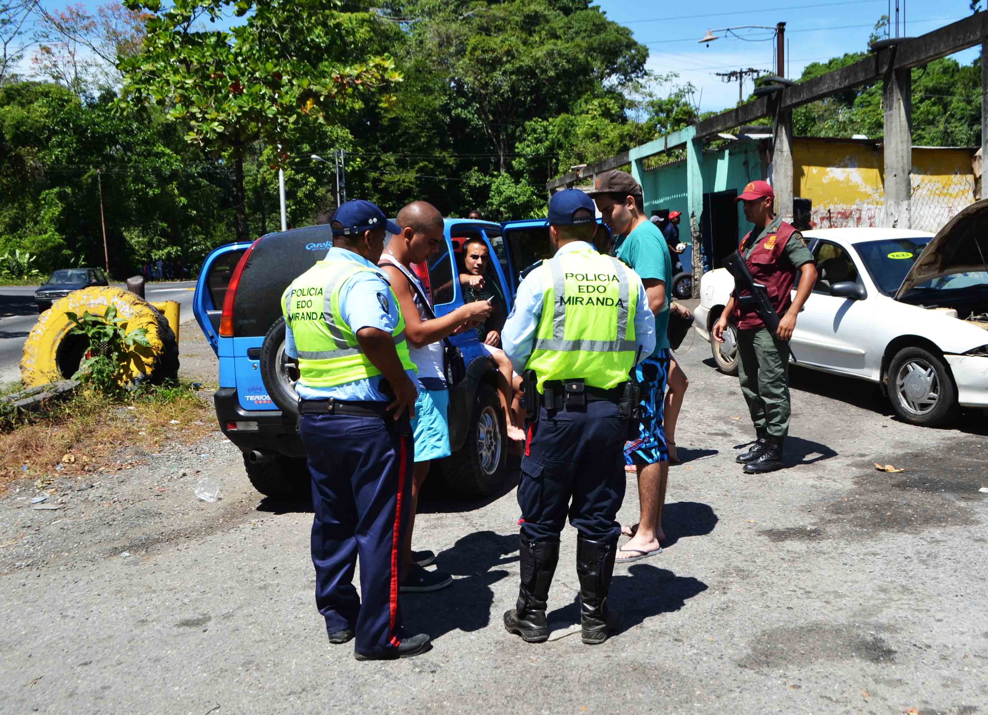
[{"label": "police officer in tall black boots, seen from behind", "polygon": [[652,353],[655,319],[641,279],[601,255],[593,200],[566,189],[549,200],[555,255],[529,273],[501,332],[526,385],[529,414],[522,476],[518,603],[505,628],[524,640],[548,638],[545,608],[567,515],[578,531],[583,642],[603,643],[617,615],[608,592],[624,498],[624,440],[637,385],[635,364]]}]

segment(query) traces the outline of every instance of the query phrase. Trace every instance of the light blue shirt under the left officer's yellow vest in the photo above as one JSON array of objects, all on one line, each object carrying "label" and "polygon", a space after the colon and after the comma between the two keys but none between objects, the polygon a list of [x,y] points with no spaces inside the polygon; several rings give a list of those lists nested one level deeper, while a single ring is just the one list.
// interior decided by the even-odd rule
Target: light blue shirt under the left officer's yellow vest
[{"label": "light blue shirt under the left officer's yellow vest", "polygon": [[[364,327],[376,327],[387,333],[394,331],[398,324],[398,306],[391,295],[390,284],[381,270],[364,258],[359,253],[346,249],[330,249],[326,253],[326,260],[349,260],[372,268],[373,273],[362,271],[351,277],[343,288],[340,289],[340,315],[343,320],[350,325],[354,334]],[[329,296],[324,296],[326,306],[329,306]],[[381,298],[387,304],[385,312],[381,307]],[[288,299],[286,299],[288,300]],[[291,326],[285,326],[285,354],[289,357],[298,357],[295,351],[295,336],[291,332]],[[413,385],[418,385],[415,378],[415,371],[406,370]],[[295,393],[303,399],[344,399],[350,401],[376,401],[389,402],[378,389],[377,386],[383,379],[381,375],[364,380],[355,380],[352,383],[335,385],[332,388],[309,388],[298,384],[295,386]]]}]

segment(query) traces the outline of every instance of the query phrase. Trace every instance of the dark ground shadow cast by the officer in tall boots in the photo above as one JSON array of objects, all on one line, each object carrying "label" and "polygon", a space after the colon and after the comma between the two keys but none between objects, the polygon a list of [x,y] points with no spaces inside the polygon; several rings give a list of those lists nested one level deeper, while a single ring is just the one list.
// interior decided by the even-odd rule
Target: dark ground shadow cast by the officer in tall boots
[{"label": "dark ground shadow cast by the officer in tall boots", "polygon": [[[563,564],[560,563],[553,589],[561,586],[559,576],[562,567]],[[572,578],[576,581],[575,575]],[[706,584],[693,576],[677,576],[672,571],[652,565],[634,564],[626,571],[617,567],[611,582],[611,593],[608,595],[609,608],[614,608],[620,616],[614,635],[620,636],[646,618],[677,611],[706,589]],[[577,594],[569,606],[547,613],[546,620],[550,630],[560,630],[579,623],[580,595]]]}]

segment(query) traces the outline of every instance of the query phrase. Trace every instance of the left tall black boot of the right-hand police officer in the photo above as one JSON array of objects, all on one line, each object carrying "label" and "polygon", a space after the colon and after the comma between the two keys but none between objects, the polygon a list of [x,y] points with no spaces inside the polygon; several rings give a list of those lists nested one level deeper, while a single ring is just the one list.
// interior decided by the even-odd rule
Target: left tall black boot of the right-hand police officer
[{"label": "left tall black boot of the right-hand police officer", "polygon": [[529,643],[541,643],[549,637],[545,602],[559,562],[559,542],[528,541],[519,536],[519,554],[522,585],[518,589],[518,604],[504,613],[504,627]]}]

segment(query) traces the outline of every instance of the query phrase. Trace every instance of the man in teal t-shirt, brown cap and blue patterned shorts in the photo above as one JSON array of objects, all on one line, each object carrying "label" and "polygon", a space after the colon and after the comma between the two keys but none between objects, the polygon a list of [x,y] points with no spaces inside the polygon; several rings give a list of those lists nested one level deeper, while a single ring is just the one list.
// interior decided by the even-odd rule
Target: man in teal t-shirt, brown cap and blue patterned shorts
[{"label": "man in teal t-shirt, brown cap and blue patterned shorts", "polygon": [[[630,174],[599,174],[593,190],[604,223],[618,238],[615,255],[641,276],[648,307],[655,314],[655,351],[632,371],[641,386],[641,422],[638,438],[624,445],[624,460],[638,472],[641,514],[635,527],[621,532],[631,536],[617,551],[617,563],[627,563],[662,551],[662,507],[669,478],[669,452],[662,425],[662,404],[669,378],[669,300],[672,280],[669,247],[658,227],[645,216],[641,186]],[[621,238],[622,237],[622,238]]]}]

